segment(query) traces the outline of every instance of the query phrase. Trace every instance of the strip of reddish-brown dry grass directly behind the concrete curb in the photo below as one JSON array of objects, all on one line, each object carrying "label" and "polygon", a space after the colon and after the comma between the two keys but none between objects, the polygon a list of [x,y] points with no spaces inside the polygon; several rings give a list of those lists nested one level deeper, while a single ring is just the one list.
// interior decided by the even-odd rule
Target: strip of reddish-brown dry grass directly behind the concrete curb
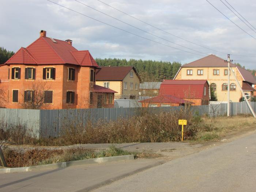
[{"label": "strip of reddish-brown dry grass directly behind the concrete curb", "polygon": [[91,149],[84,149],[82,147],[72,148],[68,150],[50,150],[50,149],[33,149],[25,152],[10,150],[5,148],[3,150],[8,167],[27,167],[34,165],[46,165],[50,163],[59,163],[67,161],[77,161],[83,159],[91,159],[98,157],[113,157],[118,155],[139,155],[139,153],[132,153],[122,149],[111,146],[108,150],[94,151]]}]

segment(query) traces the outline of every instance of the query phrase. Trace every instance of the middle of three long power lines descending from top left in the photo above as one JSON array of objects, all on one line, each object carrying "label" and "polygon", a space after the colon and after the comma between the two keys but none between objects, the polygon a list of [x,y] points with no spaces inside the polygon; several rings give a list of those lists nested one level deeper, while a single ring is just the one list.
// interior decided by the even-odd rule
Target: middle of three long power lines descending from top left
[{"label": "middle of three long power lines descending from top left", "polygon": [[115,17],[113,17],[113,16],[111,16],[111,15],[108,15],[108,14],[102,12],[102,11],[99,11],[99,10],[97,10],[97,9],[95,9],[95,8],[93,8],[93,7],[89,6],[89,5],[87,5],[87,4],[84,4],[84,3],[82,3],[82,2],[80,2],[80,1],[78,1],[78,0],[74,0],[74,1],[76,1],[76,2],[78,2],[78,3],[80,3],[80,4],[82,4],[82,5],[84,5],[84,6],[86,6],[86,7],[89,7],[89,8],[91,8],[91,9],[95,10],[95,11],[98,11],[98,12],[100,12],[100,13],[106,15],[106,16],[109,16],[109,17],[111,17],[112,19],[116,19],[116,20],[118,20],[118,21],[120,21],[120,22],[122,22],[122,23],[124,23],[124,24],[126,24],[126,25],[129,25],[129,26],[131,26],[131,27],[133,27],[133,28],[135,28],[135,29],[138,29],[138,30],[143,31],[143,32],[145,32],[145,33],[147,33],[147,34],[153,35],[154,37],[158,37],[158,38],[163,39],[163,40],[165,40],[165,41],[168,41],[168,42],[170,42],[170,43],[172,43],[172,44],[181,46],[181,47],[186,48],[186,49],[193,50],[193,51],[198,52],[198,53],[202,53],[202,54],[209,55],[209,54],[207,54],[207,53],[203,53],[203,52],[197,51],[197,50],[195,50],[195,49],[191,49],[191,48],[188,48],[188,47],[186,47],[186,46],[183,46],[183,45],[177,44],[177,43],[175,43],[175,42],[169,41],[168,39],[159,37],[158,35],[155,35],[155,34],[153,34],[153,33],[150,33],[150,32],[148,32],[148,31],[145,31],[145,30],[143,30],[143,29],[140,29],[139,27],[136,27],[136,26],[133,26],[133,25],[131,25],[131,24],[129,24],[129,23],[126,23],[126,22],[124,22],[124,21],[122,21],[122,20],[120,20],[120,19],[117,19],[117,18],[115,18]]}]

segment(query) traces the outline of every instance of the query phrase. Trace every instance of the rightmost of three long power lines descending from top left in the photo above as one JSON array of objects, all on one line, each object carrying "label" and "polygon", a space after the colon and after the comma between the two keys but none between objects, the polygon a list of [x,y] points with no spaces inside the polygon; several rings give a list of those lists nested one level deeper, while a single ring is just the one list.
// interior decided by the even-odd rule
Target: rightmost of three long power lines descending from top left
[{"label": "rightmost of three long power lines descending from top left", "polygon": [[[113,6],[109,5],[109,4],[107,4],[107,3],[103,2],[103,1],[101,1],[101,0],[97,0],[97,1],[99,1],[99,2],[101,2],[101,3],[103,3],[103,4],[107,5],[107,6],[109,6],[109,7],[113,8],[113,9],[115,9],[115,10],[117,10],[117,11],[119,11],[119,12],[125,14],[125,15],[128,15],[129,17],[131,17],[131,18],[133,18],[133,19],[136,19],[136,20],[138,20],[138,21],[140,21],[140,22],[142,22],[142,23],[145,23],[146,25],[149,25],[149,26],[151,26],[151,27],[154,27],[155,29],[158,29],[158,30],[160,30],[160,31],[162,31],[162,32],[164,32],[164,33],[167,33],[167,34],[169,34],[169,35],[173,35],[174,37],[177,37],[177,38],[179,38],[179,39],[182,39],[182,40],[187,41],[187,42],[189,42],[189,43],[192,43],[192,44],[194,44],[194,45],[200,46],[200,47],[202,47],[202,48],[206,48],[206,49],[212,50],[212,51],[214,51],[214,52],[218,52],[218,53],[223,53],[223,52],[220,52],[220,51],[217,51],[217,50],[208,48],[208,47],[206,47],[206,46],[196,44],[195,42],[189,41],[189,40],[187,40],[187,39],[185,39],[185,38],[179,37],[179,36],[174,35],[174,34],[172,34],[172,33],[169,33],[168,31],[165,31],[165,30],[163,30],[163,29],[160,29],[159,27],[156,27],[156,26],[151,25],[151,24],[149,24],[149,23],[147,23],[147,22],[145,22],[145,21],[143,21],[143,20],[140,20],[140,19],[138,19],[138,18],[136,18],[136,17],[134,17],[134,16],[132,16],[132,15],[129,15],[128,13],[126,13],[126,12],[124,12],[124,11],[121,11],[121,10],[119,10],[119,9],[117,9],[117,8],[115,8],[115,7],[113,7]],[[227,54],[227,53],[223,53],[223,54]]]}]

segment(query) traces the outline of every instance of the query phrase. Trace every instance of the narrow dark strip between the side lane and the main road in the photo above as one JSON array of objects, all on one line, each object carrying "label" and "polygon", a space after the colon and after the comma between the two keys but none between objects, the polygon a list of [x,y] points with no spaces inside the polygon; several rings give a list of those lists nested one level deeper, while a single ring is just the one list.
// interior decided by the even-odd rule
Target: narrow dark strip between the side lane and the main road
[{"label": "narrow dark strip between the side lane and the main road", "polygon": [[104,185],[108,185],[108,184],[110,184],[110,183],[112,183],[112,182],[114,182],[114,181],[120,180],[120,179],[122,179],[122,178],[124,178],[124,177],[131,176],[131,175],[133,175],[133,174],[142,172],[142,171],[144,171],[144,170],[146,170],[146,169],[150,169],[150,168],[152,168],[152,167],[156,167],[156,166],[158,166],[158,165],[162,165],[163,163],[166,163],[166,162],[167,162],[167,161],[158,161],[158,162],[156,162],[156,163],[152,163],[151,165],[147,165],[147,166],[141,167],[141,168],[139,168],[139,169],[133,170],[133,171],[131,171],[131,172],[124,173],[124,174],[122,174],[122,175],[120,175],[120,176],[113,177],[113,178],[111,178],[111,179],[108,179],[108,180],[99,182],[98,184],[92,185],[92,186],[90,186],[90,187],[86,187],[86,188],[84,188],[84,189],[80,189],[80,190],[78,190],[78,191],[76,191],[76,192],[88,192],[88,191],[92,191],[93,189],[100,188],[100,187],[102,187],[102,186],[104,186]]}]

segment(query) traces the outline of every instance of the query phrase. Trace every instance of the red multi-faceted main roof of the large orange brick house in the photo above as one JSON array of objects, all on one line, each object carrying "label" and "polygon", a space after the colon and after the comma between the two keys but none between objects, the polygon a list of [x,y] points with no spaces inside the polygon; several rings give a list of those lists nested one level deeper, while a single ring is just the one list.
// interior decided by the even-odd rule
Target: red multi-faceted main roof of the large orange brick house
[{"label": "red multi-faceted main roof of the large orange brick house", "polygon": [[74,64],[99,67],[88,50],[78,51],[66,41],[53,40],[41,36],[26,48],[20,48],[5,64]]}]

